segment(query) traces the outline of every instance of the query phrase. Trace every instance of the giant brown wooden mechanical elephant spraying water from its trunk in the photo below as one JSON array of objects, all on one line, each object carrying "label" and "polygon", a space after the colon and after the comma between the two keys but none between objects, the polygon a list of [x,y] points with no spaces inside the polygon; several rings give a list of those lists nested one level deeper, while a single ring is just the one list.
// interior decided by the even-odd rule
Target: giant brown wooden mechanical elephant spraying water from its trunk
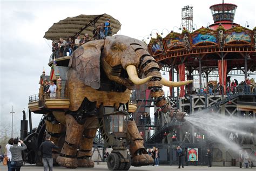
[{"label": "giant brown wooden mechanical elephant spraying water from its trunk", "polygon": [[[65,120],[62,118],[66,126],[65,143],[57,158],[57,162],[64,167],[94,166],[90,159],[92,143],[97,129],[104,131],[103,115],[116,113],[120,106],[128,111],[134,85],[147,84],[157,107],[165,113],[169,112],[171,117],[184,117],[184,113],[171,108],[162,86],[181,86],[191,81],[172,82],[162,78],[156,60],[147,51],[145,43],[137,39],[117,35],[93,40],[73,52],[69,66],[65,86],[65,97],[70,99],[69,111],[53,112],[57,120],[60,115],[65,117]],[[112,141],[117,141],[118,147],[113,147],[112,152],[128,146],[130,156],[122,152],[118,154],[120,160],[115,161],[118,155],[111,155],[111,162],[121,164],[110,166],[110,169],[129,169],[129,164],[125,162],[130,161],[132,166],[150,165],[153,162],[132,119],[127,121],[124,138]]]}]

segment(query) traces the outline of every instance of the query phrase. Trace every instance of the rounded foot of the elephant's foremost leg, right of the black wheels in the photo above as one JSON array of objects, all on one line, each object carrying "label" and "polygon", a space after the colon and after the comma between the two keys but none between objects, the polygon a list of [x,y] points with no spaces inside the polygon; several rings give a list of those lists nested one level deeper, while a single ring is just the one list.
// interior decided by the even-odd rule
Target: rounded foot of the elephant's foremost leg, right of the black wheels
[{"label": "rounded foot of the elephant's foremost leg, right of the black wheels", "polygon": [[132,166],[148,166],[154,162],[153,158],[149,154],[140,154],[132,158]]}]

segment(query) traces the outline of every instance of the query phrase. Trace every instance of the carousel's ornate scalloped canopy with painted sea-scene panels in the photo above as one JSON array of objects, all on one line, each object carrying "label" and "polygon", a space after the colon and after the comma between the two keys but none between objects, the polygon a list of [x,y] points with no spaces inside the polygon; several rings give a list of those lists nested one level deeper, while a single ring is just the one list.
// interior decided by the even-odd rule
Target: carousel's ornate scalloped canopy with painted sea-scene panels
[{"label": "carousel's ornate scalloped canopy with painted sea-scene panels", "polygon": [[[164,38],[154,38],[148,48],[151,55],[168,71],[171,65],[185,63],[192,70],[198,70],[199,58],[205,70],[217,68],[218,60],[223,55],[228,61],[227,70],[243,68],[245,57],[248,69],[256,70],[256,53],[253,30],[240,25],[226,30],[219,25],[216,30],[200,28],[194,32],[183,30],[181,33],[171,32]],[[202,67],[202,69],[203,69]]]}]

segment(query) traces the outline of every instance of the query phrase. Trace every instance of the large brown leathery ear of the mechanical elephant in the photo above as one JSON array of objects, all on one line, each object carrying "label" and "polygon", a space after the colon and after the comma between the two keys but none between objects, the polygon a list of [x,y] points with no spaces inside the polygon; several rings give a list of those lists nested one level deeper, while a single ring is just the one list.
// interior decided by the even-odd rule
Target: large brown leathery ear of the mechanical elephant
[{"label": "large brown leathery ear of the mechanical elephant", "polygon": [[73,52],[69,61],[69,66],[77,71],[77,78],[95,89],[100,86],[100,53],[104,43],[105,40],[85,43]]}]

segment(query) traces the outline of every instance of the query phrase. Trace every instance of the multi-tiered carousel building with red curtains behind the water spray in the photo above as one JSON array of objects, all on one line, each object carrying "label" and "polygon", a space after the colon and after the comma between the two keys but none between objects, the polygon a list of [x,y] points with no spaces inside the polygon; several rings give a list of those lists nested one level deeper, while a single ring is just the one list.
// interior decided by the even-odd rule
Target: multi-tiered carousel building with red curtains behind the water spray
[{"label": "multi-tiered carousel building with red curtains behind the water spray", "polygon": [[[185,111],[188,115],[204,110],[254,120],[255,123],[256,28],[250,30],[248,25],[243,27],[234,23],[236,9],[235,4],[212,5],[210,10],[213,24],[202,26],[193,32],[185,27],[180,28],[181,33],[171,31],[165,37],[160,36],[163,33],[156,33],[157,37],[151,38],[148,49],[158,61],[161,70],[169,72],[171,81],[174,81],[174,78],[178,81],[194,79],[193,85],[181,86],[175,90],[170,88],[169,97],[173,107]],[[212,80],[213,77],[216,79]],[[242,82],[231,91],[232,80],[238,77],[243,77]],[[245,80],[248,79],[250,82],[246,84]],[[214,139],[204,130],[172,120],[157,108],[151,122],[146,121],[146,117],[142,118],[142,115],[149,113],[153,100],[147,91],[144,94],[137,93],[136,97],[138,106],[142,108],[137,114],[140,133],[146,139],[148,148],[157,146],[161,156],[166,156],[160,159],[161,162],[177,163],[176,146],[181,145],[186,149],[198,149],[198,160],[191,162],[186,158],[187,165],[206,165],[204,154],[207,148],[211,148],[213,152],[213,166],[238,165],[235,164],[238,155],[228,148],[223,148],[219,143],[214,143]],[[140,125],[141,119],[144,122]],[[242,127],[241,130],[243,129],[250,130],[250,136],[234,132],[227,132],[227,136],[234,135],[235,143],[254,156],[255,125]]]}]

